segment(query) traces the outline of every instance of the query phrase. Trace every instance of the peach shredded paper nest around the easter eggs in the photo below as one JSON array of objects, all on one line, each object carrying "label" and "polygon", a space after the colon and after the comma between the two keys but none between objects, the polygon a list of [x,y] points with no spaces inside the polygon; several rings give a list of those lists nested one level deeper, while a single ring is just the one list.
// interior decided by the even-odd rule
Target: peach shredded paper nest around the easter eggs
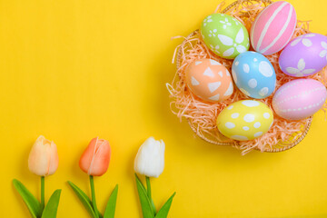
[{"label": "peach shredded paper nest around the easter eggs", "polygon": [[[215,13],[232,15],[242,22],[250,33],[255,17],[264,7],[271,3],[270,1],[239,0],[227,6],[225,9],[223,9],[224,4],[218,5]],[[311,33],[309,30],[309,21],[298,21],[292,38],[308,33]],[[179,37],[183,36],[174,38]],[[269,132],[251,141],[235,141],[220,134],[216,126],[218,114],[220,114],[227,105],[250,98],[237,88],[234,89],[233,95],[229,99],[215,104],[203,102],[203,100],[192,94],[185,82],[185,69],[189,64],[197,59],[211,58],[223,64],[231,72],[233,60],[223,59],[213,54],[213,52],[204,45],[198,30],[187,37],[183,37],[183,39],[183,43],[177,46],[173,55],[173,62],[176,59],[177,71],[172,84],[167,84],[167,88],[173,99],[171,102],[173,114],[176,114],[181,120],[185,117],[195,134],[212,144],[232,145],[241,149],[243,154],[253,149],[262,152],[281,152],[302,141],[302,138],[310,128],[312,117],[301,121],[288,121],[274,113],[274,121]],[[250,48],[250,50],[253,50],[253,48]],[[278,64],[280,54],[281,52],[266,56],[271,61],[276,72],[277,83],[275,91],[281,87],[282,84],[296,79],[282,73]],[[326,86],[326,72],[327,67],[323,68],[322,71],[317,74],[307,76],[307,78],[321,81],[322,84]],[[272,109],[273,94],[268,98],[256,100],[267,104]],[[326,104],[323,108],[325,107]]]}]

